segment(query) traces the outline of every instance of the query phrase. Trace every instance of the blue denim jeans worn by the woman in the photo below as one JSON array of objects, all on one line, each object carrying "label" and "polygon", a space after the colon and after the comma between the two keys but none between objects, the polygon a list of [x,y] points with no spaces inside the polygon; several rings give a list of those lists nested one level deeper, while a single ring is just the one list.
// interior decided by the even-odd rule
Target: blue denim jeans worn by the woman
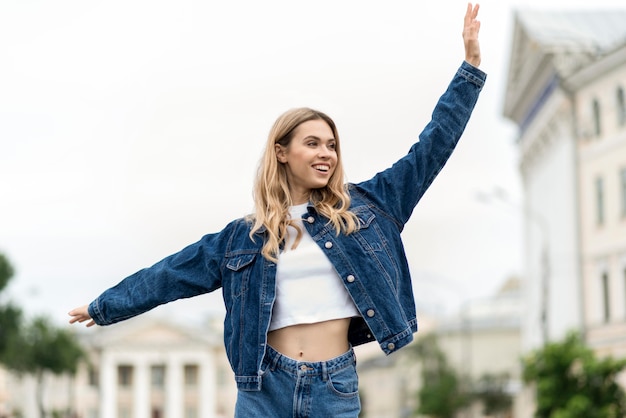
[{"label": "blue denim jeans worn by the woman", "polygon": [[357,418],[361,410],[352,348],[321,362],[297,361],[267,347],[261,391],[239,390],[235,418]]}]

